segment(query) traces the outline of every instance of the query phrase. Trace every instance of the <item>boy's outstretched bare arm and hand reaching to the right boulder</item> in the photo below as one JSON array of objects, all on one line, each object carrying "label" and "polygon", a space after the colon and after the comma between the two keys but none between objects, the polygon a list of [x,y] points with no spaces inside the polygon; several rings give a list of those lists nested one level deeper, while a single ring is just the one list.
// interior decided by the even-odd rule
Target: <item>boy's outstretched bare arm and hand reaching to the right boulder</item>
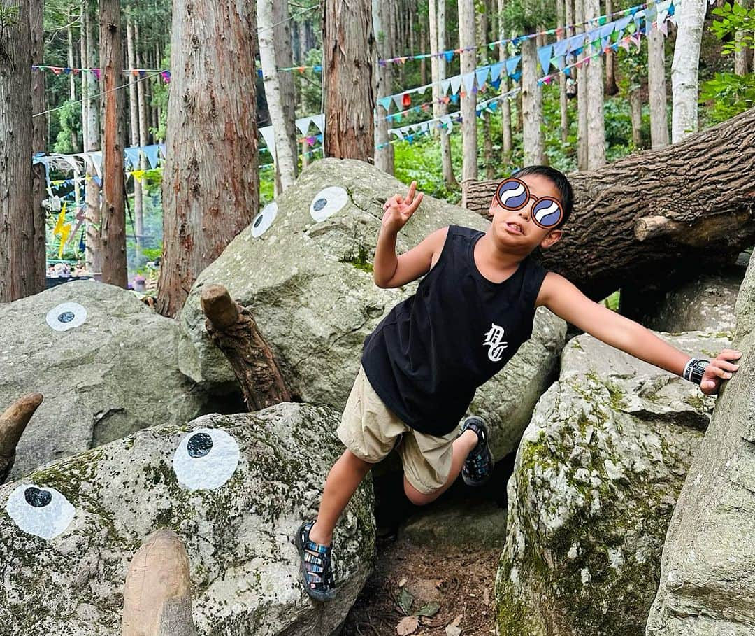
[{"label": "boy's outstretched bare arm and hand reaching to the right boulder", "polygon": [[[606,344],[670,373],[681,376],[684,366],[692,357],[672,347],[639,323],[591,301],[557,273],[547,273],[535,304],[545,305],[557,316]],[[717,393],[720,382],[731,378],[739,368],[738,364],[729,360],[737,360],[739,357],[739,351],[722,350],[706,367],[700,382],[701,391],[704,394]]]}]

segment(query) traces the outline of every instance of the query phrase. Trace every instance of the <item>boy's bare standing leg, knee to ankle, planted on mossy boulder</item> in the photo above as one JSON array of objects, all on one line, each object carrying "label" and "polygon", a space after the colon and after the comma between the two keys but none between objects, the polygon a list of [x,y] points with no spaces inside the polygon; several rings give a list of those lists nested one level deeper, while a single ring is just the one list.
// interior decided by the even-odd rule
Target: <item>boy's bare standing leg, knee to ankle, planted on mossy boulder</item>
[{"label": "boy's bare standing leg, knee to ankle, planted on mossy boulder", "polygon": [[349,499],[370,468],[372,465],[369,462],[360,459],[349,449],[344,450],[344,454],[335,462],[325,481],[317,520],[310,530],[310,539],[313,542],[331,545],[338,517],[341,517]]}]

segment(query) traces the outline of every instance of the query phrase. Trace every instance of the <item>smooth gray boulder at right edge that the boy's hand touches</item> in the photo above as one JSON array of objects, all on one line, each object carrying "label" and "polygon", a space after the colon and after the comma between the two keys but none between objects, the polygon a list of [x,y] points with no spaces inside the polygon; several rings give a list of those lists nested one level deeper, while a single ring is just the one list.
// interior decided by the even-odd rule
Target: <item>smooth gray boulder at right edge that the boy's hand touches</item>
[{"label": "smooth gray boulder at right edge that the boy's hand touches", "polygon": [[755,634],[755,257],[725,383],[673,512],[648,636]]}]

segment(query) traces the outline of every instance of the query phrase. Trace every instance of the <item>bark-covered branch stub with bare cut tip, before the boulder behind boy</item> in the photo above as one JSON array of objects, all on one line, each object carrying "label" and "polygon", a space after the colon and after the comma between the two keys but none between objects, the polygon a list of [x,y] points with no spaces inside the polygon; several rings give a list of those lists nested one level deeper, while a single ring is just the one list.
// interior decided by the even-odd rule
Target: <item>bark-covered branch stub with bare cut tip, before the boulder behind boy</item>
[{"label": "bark-covered branch stub with bare cut tip, before the boulder behind boy", "polygon": [[230,362],[249,409],[290,402],[291,393],[273,351],[251,313],[233,301],[222,285],[205,286],[200,301],[207,332]]}]

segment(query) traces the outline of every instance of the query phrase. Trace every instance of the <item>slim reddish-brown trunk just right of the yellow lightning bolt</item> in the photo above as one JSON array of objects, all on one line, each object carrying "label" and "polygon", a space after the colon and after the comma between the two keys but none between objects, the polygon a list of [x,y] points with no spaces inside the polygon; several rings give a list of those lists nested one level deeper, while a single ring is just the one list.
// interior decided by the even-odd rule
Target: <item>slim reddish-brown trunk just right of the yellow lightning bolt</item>
[{"label": "slim reddish-brown trunk just right of the yellow lightning bolt", "polygon": [[100,0],[100,77],[102,78],[103,153],[102,279],[126,286],[126,216],[123,182],[125,146],[125,94],[116,90],[123,79],[123,45],[120,0]]}]

